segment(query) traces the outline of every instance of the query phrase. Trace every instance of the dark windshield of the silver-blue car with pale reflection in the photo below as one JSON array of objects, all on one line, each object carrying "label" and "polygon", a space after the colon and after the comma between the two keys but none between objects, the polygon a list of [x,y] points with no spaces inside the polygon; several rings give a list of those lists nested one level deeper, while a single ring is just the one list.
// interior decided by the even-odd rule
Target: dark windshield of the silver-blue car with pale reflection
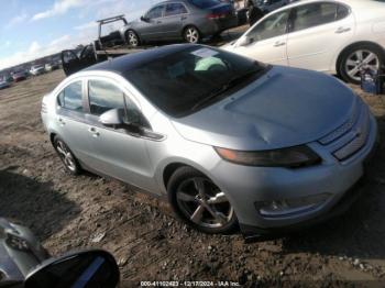
[{"label": "dark windshield of the silver-blue car with pale reflection", "polygon": [[[255,80],[264,68],[229,52],[193,46],[130,70],[125,78],[157,108],[179,118],[197,111],[197,103],[206,102],[206,98],[218,101],[219,96],[229,95],[227,90],[235,92]],[[245,80],[241,79],[243,75]]]}]

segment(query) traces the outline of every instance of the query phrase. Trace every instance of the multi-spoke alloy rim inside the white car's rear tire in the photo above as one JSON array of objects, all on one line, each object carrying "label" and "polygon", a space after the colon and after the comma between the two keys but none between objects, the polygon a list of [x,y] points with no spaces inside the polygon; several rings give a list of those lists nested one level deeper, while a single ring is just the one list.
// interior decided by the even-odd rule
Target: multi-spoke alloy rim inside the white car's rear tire
[{"label": "multi-spoke alloy rim inside the white car's rear tire", "polygon": [[346,58],[345,73],[355,81],[361,81],[361,70],[367,68],[380,69],[378,56],[369,49],[358,49]]}]

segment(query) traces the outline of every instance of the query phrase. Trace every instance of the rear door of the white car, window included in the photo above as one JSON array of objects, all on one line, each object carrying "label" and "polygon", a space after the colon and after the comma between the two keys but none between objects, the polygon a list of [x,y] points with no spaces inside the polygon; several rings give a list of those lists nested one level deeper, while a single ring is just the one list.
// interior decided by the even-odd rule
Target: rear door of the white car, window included
[{"label": "rear door of the white car, window included", "polygon": [[287,56],[289,66],[329,71],[354,35],[354,16],[337,2],[316,2],[293,9]]}]

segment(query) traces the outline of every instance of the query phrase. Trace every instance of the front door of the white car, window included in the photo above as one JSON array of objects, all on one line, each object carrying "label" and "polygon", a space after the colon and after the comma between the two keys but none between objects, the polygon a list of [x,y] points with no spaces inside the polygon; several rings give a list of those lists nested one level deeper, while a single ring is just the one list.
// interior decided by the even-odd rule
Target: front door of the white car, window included
[{"label": "front door of the white car, window included", "polygon": [[260,62],[287,66],[289,14],[290,10],[286,10],[262,19],[240,38],[235,52]]}]

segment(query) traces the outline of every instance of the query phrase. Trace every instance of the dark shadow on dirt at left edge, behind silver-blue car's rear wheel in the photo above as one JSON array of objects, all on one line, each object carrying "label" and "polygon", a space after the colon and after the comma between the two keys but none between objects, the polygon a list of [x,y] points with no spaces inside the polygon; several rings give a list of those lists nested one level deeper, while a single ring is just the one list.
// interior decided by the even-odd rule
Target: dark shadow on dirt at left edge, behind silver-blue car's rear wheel
[{"label": "dark shadow on dirt at left edge, behind silver-blue car's rear wheel", "polygon": [[30,228],[44,241],[80,213],[75,202],[53,190],[51,181],[20,175],[16,168],[0,170],[0,217]]}]

